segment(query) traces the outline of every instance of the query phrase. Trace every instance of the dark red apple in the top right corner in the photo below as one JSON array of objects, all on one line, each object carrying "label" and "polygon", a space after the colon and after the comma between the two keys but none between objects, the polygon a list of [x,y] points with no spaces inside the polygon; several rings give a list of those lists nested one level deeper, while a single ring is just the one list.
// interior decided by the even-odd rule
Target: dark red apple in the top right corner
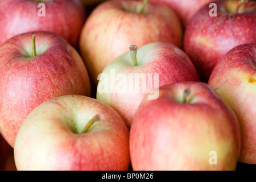
[{"label": "dark red apple in the top right corner", "polygon": [[209,5],[197,11],[187,24],[183,50],[193,61],[202,81],[207,82],[217,61],[239,44],[256,42],[256,2],[215,1],[217,16]]}]

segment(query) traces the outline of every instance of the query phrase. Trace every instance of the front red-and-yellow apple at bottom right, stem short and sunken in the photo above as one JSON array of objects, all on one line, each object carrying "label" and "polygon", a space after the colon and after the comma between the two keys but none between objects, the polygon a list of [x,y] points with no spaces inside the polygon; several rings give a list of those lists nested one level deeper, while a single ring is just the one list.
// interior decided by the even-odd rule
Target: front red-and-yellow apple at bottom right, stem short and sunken
[{"label": "front red-and-yellow apple at bottom right, stem short and sunken", "polygon": [[130,129],[137,170],[235,170],[241,133],[234,111],[205,82],[179,82],[146,96]]}]

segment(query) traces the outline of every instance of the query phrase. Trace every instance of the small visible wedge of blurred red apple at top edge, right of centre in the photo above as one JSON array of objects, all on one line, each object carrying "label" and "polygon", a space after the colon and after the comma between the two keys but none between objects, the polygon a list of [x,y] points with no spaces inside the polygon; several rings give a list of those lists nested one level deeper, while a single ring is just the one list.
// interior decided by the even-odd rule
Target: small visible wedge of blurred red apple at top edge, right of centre
[{"label": "small visible wedge of blurred red apple at top edge, right of centre", "polygon": [[[141,0],[142,1],[142,0]],[[163,5],[167,5],[175,10],[178,14],[179,18],[182,21],[184,27],[186,27],[187,22],[189,22],[190,18],[206,3],[212,2],[213,0],[150,0],[150,2],[154,3],[162,3]]]}]

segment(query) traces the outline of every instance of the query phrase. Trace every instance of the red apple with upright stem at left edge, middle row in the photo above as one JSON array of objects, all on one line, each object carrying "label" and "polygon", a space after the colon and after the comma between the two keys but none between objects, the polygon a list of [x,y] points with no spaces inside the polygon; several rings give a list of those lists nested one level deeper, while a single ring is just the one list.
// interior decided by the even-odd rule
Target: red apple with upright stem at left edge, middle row
[{"label": "red apple with upright stem at left edge, middle row", "polygon": [[85,64],[65,39],[39,31],[14,36],[2,44],[0,132],[12,147],[30,111],[63,94],[91,94]]}]

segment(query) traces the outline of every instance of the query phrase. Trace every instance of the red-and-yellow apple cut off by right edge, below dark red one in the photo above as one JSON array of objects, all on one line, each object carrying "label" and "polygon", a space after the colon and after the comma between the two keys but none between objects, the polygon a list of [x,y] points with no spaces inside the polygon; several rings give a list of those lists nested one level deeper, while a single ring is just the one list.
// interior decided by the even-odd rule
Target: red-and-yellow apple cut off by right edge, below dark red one
[{"label": "red-and-yellow apple cut off by right edge, below dark red one", "polygon": [[256,164],[256,43],[231,49],[215,65],[209,85],[231,106],[241,125],[239,161]]}]

